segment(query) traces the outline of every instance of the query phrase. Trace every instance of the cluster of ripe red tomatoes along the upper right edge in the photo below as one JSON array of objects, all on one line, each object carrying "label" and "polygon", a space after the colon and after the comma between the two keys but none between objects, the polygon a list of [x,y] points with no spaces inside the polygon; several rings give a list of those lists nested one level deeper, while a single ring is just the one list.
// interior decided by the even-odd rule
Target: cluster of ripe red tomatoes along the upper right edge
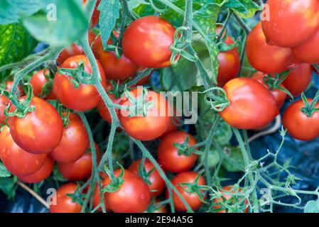
[{"label": "cluster of ripe red tomatoes along the upper right edge", "polygon": [[[251,78],[231,79],[223,87],[230,104],[220,116],[234,128],[267,126],[279,114],[287,94],[297,97],[306,91],[311,64],[319,62],[318,1],[269,0],[264,10],[268,17],[257,23],[246,43],[247,58],[258,72]],[[288,106],[283,114],[288,133],[299,140],[318,137],[317,106],[313,99]]]}]

